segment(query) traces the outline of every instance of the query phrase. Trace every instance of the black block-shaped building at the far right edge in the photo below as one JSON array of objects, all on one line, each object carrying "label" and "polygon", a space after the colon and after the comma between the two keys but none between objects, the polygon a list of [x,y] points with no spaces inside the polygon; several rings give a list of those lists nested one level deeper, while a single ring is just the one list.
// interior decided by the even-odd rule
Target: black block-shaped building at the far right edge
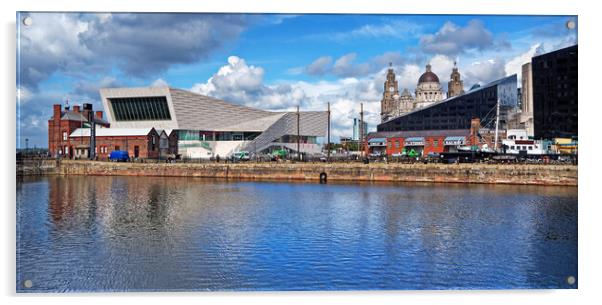
[{"label": "black block-shaped building at the far right edge", "polygon": [[577,45],[535,56],[533,124],[536,139],[577,136]]}]

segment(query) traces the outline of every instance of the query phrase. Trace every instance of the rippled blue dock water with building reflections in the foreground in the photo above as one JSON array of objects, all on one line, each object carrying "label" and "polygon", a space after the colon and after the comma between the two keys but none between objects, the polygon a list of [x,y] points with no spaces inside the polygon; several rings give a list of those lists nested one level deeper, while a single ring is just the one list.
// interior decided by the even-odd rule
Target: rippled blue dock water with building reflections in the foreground
[{"label": "rippled blue dock water with building reflections in the foreground", "polygon": [[576,188],[47,177],[17,207],[20,291],[576,287]]}]

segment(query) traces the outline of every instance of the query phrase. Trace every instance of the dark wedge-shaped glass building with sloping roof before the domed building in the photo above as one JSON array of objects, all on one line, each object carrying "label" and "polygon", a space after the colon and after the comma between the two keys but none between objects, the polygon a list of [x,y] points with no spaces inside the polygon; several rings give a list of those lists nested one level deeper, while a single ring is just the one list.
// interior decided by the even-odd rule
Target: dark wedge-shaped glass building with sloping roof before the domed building
[{"label": "dark wedge-shaped glass building with sloping roof before the domed building", "polygon": [[378,125],[377,131],[469,129],[473,118],[494,128],[498,100],[499,127],[504,129],[508,113],[518,107],[516,74],[393,118]]}]

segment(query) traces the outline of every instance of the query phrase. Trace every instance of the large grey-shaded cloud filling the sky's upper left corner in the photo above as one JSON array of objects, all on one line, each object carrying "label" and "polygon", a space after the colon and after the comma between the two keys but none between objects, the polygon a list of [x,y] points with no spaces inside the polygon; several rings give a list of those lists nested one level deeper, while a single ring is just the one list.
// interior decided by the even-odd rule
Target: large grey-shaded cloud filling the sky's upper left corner
[{"label": "large grey-shaded cloud filling the sky's upper left corner", "polygon": [[207,58],[237,39],[254,18],[245,14],[27,15],[34,23],[20,28],[17,72],[20,85],[31,90],[55,72],[89,79],[118,68],[129,76],[152,77],[174,64]]}]

